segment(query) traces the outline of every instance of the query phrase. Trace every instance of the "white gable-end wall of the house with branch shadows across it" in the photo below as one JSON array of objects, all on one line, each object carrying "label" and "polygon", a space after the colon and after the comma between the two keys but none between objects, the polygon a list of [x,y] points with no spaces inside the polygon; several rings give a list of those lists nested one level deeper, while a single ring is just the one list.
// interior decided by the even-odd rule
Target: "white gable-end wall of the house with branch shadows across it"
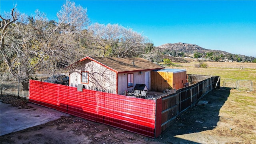
[{"label": "white gable-end wall of the house with branch shadows across it", "polygon": [[70,83],[81,84],[81,71],[88,72],[89,82],[84,84],[86,87],[116,90],[116,73],[89,59],[84,60],[70,72]]}]

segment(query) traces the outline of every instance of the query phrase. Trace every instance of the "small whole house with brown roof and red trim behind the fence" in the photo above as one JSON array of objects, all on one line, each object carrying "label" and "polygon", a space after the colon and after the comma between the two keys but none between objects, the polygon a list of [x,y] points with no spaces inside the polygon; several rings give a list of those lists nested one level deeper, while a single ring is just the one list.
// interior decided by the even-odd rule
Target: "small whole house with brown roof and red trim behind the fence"
[{"label": "small whole house with brown roof and red trim behind the fence", "polygon": [[144,58],[87,56],[72,64],[71,68],[70,83],[124,92],[134,89],[136,84],[145,84],[150,90],[152,71],[164,67]]}]

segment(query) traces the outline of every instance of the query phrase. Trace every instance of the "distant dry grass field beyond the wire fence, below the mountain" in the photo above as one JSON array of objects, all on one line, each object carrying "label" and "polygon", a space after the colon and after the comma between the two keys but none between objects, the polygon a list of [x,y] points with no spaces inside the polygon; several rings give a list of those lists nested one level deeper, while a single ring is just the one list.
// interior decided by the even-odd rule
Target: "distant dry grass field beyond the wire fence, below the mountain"
[{"label": "distant dry grass field beyond the wire fence, below the mountain", "polygon": [[176,63],[182,64],[182,67],[187,70],[187,74],[202,74],[208,76],[220,76],[220,86],[224,86],[225,80],[248,80],[249,84],[252,81],[252,91],[256,91],[256,63],[242,62],[205,62],[208,68],[196,68],[199,62]]}]

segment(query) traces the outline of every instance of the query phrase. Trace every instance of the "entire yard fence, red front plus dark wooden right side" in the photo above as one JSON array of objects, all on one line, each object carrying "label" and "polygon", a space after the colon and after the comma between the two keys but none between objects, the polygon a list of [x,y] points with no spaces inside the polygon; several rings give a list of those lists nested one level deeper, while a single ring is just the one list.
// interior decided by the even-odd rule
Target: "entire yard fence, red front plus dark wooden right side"
[{"label": "entire yard fence, red front plus dark wooden right side", "polygon": [[[194,76],[195,77],[195,76]],[[200,78],[200,76],[198,76]],[[213,76],[157,100],[30,80],[29,101],[144,136],[157,138],[220,81]]]}]

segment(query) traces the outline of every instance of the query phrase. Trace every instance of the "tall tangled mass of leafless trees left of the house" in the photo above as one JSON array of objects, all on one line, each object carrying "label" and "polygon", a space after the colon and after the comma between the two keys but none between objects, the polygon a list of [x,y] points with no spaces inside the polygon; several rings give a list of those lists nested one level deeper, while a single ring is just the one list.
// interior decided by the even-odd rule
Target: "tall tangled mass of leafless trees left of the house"
[{"label": "tall tangled mass of leafless trees left of the house", "polygon": [[[8,24],[6,20],[10,28],[5,31],[1,29],[2,35],[3,31],[6,32],[1,37],[1,57],[6,56],[1,68],[3,65],[10,74],[28,78],[29,74],[37,70],[54,73],[80,59],[82,53],[79,41],[84,34],[82,30],[89,24],[86,12],[74,2],[66,1],[57,13],[56,22],[49,21],[39,10],[34,16],[23,14],[19,17],[12,10],[13,24]],[[6,44],[2,46],[4,38]],[[1,69],[1,75],[5,73]]]}]

